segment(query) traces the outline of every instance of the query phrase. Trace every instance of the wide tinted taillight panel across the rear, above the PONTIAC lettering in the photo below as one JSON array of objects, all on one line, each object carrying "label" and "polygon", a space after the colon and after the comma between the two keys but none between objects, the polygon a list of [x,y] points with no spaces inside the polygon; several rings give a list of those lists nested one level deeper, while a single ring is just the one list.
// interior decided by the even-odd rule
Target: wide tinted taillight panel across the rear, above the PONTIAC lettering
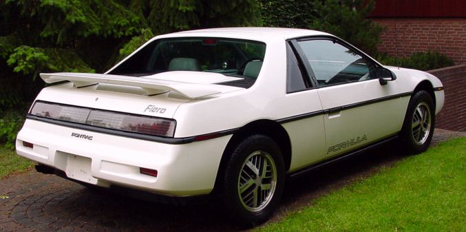
[{"label": "wide tinted taillight panel across the rear, above the PONTIAC lettering", "polygon": [[173,137],[176,126],[175,120],[167,118],[125,114],[41,101],[34,104],[30,114],[94,127],[165,137]]}]

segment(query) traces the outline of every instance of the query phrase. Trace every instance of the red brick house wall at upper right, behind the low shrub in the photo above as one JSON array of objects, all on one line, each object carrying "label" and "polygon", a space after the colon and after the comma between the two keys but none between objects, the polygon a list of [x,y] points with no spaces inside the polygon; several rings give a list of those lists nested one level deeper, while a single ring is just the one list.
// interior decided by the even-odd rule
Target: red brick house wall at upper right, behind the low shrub
[{"label": "red brick house wall at upper right, behind the low shrub", "polygon": [[386,26],[381,34],[379,50],[396,56],[410,56],[414,52],[436,50],[466,63],[465,18],[372,18]]}]

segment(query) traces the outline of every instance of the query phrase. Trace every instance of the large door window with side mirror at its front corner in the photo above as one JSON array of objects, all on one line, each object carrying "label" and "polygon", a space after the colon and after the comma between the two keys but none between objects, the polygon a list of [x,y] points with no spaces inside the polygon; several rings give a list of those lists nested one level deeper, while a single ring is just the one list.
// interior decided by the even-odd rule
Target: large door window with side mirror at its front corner
[{"label": "large door window with side mirror at its front corner", "polygon": [[319,86],[375,78],[372,64],[359,54],[330,40],[298,41]]}]

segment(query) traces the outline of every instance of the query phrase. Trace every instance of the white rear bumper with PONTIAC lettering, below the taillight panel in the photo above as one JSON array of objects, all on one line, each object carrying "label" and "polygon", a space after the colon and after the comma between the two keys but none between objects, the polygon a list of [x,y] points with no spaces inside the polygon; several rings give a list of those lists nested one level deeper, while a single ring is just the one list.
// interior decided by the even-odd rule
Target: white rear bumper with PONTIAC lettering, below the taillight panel
[{"label": "white rear bumper with PONTIAC lettering, below the taillight panel", "polygon": [[[73,133],[92,136],[76,138]],[[66,173],[67,178],[149,191],[165,196],[210,193],[231,135],[181,145],[125,138],[28,119],[17,154]],[[23,141],[32,143],[25,147]],[[140,173],[155,169],[157,177]]]}]

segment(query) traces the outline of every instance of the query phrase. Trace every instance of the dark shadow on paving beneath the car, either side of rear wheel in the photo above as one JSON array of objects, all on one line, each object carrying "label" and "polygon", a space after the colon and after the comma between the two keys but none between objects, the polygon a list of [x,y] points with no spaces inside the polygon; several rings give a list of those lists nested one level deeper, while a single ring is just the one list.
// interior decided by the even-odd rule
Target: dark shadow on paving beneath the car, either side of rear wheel
[{"label": "dark shadow on paving beneath the car, either side of rear wheel", "polygon": [[[381,168],[389,167],[405,157],[393,147],[393,144],[388,144],[290,179],[286,184],[282,203],[271,221],[279,220],[286,214],[312,203],[315,198],[371,176]],[[213,200],[210,204],[208,202],[173,206],[86,189],[76,193],[76,196],[80,195],[85,197],[72,200],[69,204],[79,205],[83,211],[100,211],[96,214],[98,219],[93,219],[95,215],[87,219],[93,220],[91,223],[97,225],[96,228],[121,231],[242,230],[242,227],[234,226],[224,217],[222,207],[214,204]]]}]

